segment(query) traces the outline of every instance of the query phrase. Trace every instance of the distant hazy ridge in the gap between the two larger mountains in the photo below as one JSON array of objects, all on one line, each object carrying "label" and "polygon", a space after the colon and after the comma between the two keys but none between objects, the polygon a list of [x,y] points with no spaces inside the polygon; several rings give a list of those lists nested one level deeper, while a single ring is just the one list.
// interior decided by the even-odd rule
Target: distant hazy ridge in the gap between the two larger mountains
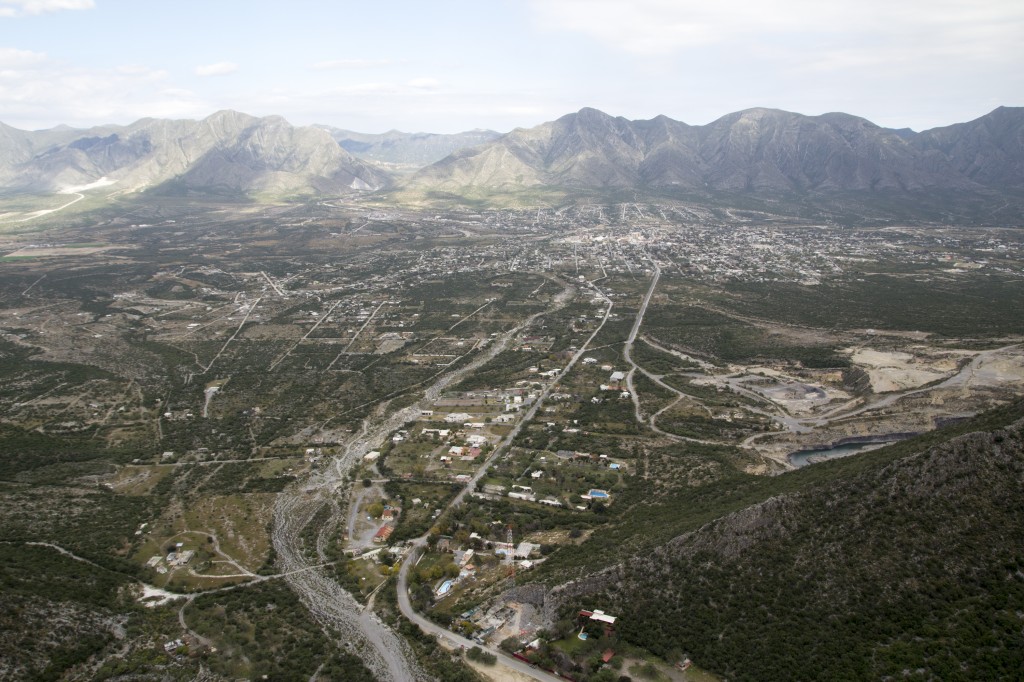
[{"label": "distant hazy ridge in the gap between the two larger mountains", "polygon": [[428,166],[454,152],[483,144],[501,136],[501,133],[494,130],[468,130],[452,135],[391,130],[375,135],[330,126],[315,127],[331,133],[338,144],[356,159],[411,170]]}]

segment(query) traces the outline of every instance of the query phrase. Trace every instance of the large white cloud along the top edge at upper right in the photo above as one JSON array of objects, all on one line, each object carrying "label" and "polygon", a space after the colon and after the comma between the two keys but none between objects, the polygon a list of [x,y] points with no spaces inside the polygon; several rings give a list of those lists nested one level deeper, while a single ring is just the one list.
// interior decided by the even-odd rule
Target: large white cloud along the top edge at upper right
[{"label": "large white cloud along the top edge at upper right", "polygon": [[983,37],[994,32],[1007,56],[1019,59],[1017,41],[1024,28],[1024,3],[1018,0],[633,0],[628,6],[617,0],[530,0],[530,7],[542,29],[580,33],[645,55],[778,42],[798,50],[822,42],[866,50],[880,41],[945,41],[962,53],[963,43],[971,41],[981,53],[991,48]]}]

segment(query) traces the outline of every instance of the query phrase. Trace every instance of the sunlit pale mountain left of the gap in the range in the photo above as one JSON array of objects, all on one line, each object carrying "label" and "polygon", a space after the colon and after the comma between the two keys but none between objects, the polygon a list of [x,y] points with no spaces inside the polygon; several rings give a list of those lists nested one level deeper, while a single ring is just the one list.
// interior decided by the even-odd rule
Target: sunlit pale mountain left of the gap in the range
[{"label": "sunlit pale mountain left of the gap in the range", "polygon": [[11,150],[0,171],[7,190],[57,191],[104,177],[123,190],[198,193],[337,193],[389,182],[327,132],[280,117],[225,111],[202,121],[0,133],[0,145]]}]

